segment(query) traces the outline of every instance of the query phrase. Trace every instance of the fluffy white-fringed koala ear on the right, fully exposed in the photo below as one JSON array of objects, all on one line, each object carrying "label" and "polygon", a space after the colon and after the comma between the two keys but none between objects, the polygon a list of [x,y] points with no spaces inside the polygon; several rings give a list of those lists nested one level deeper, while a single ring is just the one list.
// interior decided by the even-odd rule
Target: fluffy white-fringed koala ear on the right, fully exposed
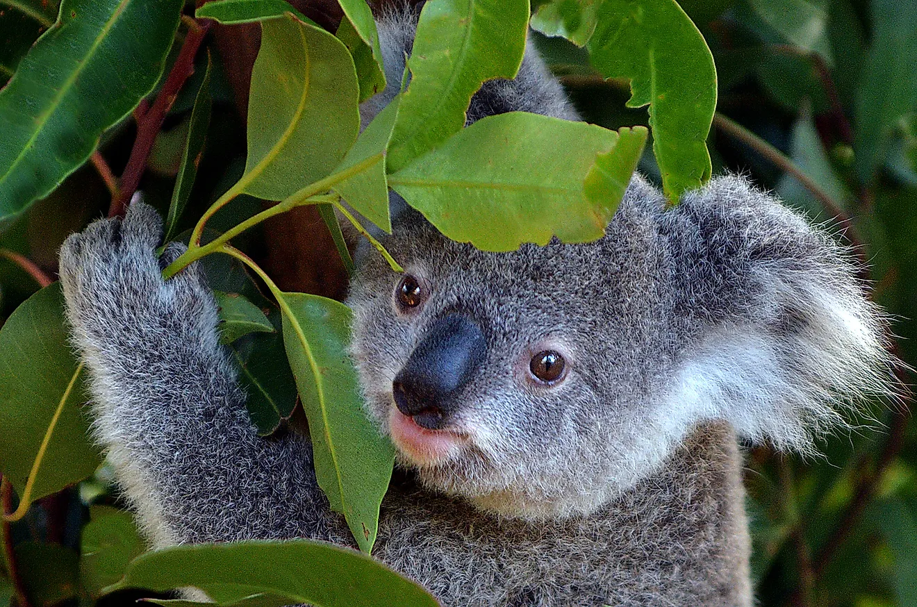
[{"label": "fluffy white-fringed koala ear on the right, fully exposed", "polygon": [[887,317],[834,237],[735,176],[660,217],[676,309],[701,327],[668,397],[686,422],[808,453],[845,411],[900,393]]}]

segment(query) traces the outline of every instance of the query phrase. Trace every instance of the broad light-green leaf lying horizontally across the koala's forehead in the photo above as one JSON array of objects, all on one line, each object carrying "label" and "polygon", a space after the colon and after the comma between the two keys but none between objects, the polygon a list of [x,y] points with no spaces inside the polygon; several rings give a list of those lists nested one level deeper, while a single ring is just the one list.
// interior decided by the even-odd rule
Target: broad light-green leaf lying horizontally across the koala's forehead
[{"label": "broad light-green leaf lying horizontally across the koala's forehead", "polygon": [[645,140],[643,127],[512,112],[479,120],[389,182],[447,237],[478,248],[586,242],[604,234]]}]

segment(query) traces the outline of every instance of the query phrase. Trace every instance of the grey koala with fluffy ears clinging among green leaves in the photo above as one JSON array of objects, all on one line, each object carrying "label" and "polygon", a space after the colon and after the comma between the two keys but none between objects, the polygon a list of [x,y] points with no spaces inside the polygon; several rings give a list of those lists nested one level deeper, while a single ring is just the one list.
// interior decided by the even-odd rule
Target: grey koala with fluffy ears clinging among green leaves
[{"label": "grey koala with fluffy ears clinging among green leaves", "polygon": [[[414,18],[380,20],[391,83]],[[469,119],[518,109],[576,119],[534,50]],[[182,247],[156,259],[160,237],[133,204],[61,250],[95,436],[138,524],[153,546],[352,546],[308,438],[256,435],[214,298],[194,266],[161,279]],[[808,452],[838,408],[889,392],[856,264],[741,177],[667,209],[635,176],[591,244],[483,252],[406,209],[383,244],[405,273],[360,254],[348,299],[400,470],[374,556],[445,605],[750,605],[736,436]]]}]

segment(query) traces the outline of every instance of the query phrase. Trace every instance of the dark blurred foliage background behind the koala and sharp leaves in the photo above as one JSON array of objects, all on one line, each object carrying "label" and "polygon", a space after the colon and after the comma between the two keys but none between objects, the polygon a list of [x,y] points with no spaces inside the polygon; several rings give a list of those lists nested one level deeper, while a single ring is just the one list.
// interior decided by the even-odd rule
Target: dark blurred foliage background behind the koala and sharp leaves
[{"label": "dark blurred foliage background behind the koala and sharp leaves", "polygon": [[[340,17],[335,3],[293,4],[332,30]],[[917,366],[917,3],[680,4],[713,50],[719,76],[718,115],[708,142],[713,173],[746,172],[853,243],[869,263],[876,299],[894,317],[900,358]],[[0,0],[0,83],[55,13],[50,0]],[[183,36],[184,28],[170,61]],[[624,106],[626,83],[603,82],[584,51],[562,39],[533,39],[587,120],[610,128],[646,125],[645,109]],[[214,61],[214,108],[189,217],[200,215],[244,167],[258,30],[215,27],[204,44]],[[198,69],[172,105],[140,183],[146,200],[163,213],[193,105],[187,91],[203,77],[202,61],[199,53]],[[0,233],[0,321],[38,289],[36,275],[54,276],[63,238],[105,215],[111,195],[97,167],[120,175],[136,131],[131,117],[107,131],[99,148],[104,163],[87,163]],[[645,154],[640,169],[658,180],[652,154]],[[232,226],[259,210],[260,201],[241,196],[211,226]],[[275,217],[239,243],[284,290],[336,298],[346,292],[346,273],[314,208]],[[23,270],[23,259],[34,264],[34,275]],[[912,381],[911,375],[904,379]],[[877,403],[872,416],[875,422],[863,420],[871,428],[825,443],[823,459],[749,448],[746,486],[760,604],[917,605],[917,434],[907,403],[890,409]],[[86,557],[87,546],[116,546],[109,554],[122,559],[141,550],[109,481],[110,471],[99,469],[92,480],[41,500],[24,521],[5,525],[31,604],[136,598],[130,591],[94,598],[105,567],[116,570],[118,564],[100,569]],[[7,511],[12,505],[5,504]],[[0,575],[0,605],[9,594],[9,578]]]}]

